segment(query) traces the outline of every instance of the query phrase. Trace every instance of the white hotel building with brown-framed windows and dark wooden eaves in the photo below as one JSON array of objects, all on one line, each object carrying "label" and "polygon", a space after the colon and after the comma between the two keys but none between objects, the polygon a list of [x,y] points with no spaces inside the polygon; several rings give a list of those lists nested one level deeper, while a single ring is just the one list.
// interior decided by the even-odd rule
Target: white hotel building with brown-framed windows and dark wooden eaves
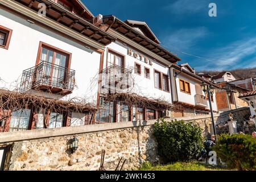
[{"label": "white hotel building with brown-framed windows and dark wooden eaves", "polygon": [[[160,46],[146,23],[95,21],[79,0],[33,2],[0,0],[0,88],[69,109],[1,106],[0,131],[209,114],[204,79],[177,65],[179,57]],[[41,2],[46,16],[38,15]],[[73,109],[81,100],[94,110]]]}]

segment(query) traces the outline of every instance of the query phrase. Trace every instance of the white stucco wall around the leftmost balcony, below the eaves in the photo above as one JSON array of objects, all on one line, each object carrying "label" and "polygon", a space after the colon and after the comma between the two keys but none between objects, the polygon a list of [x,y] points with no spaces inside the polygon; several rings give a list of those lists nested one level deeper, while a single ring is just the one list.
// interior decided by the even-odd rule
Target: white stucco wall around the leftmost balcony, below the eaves
[{"label": "white stucco wall around the leftmost balcony, below the eaves", "polygon": [[63,99],[86,97],[88,102],[96,102],[100,53],[1,8],[0,25],[13,30],[9,49],[0,48],[0,88],[13,90],[19,86],[22,71],[35,66],[39,42],[42,41],[72,53],[71,69],[76,71],[78,88]]}]

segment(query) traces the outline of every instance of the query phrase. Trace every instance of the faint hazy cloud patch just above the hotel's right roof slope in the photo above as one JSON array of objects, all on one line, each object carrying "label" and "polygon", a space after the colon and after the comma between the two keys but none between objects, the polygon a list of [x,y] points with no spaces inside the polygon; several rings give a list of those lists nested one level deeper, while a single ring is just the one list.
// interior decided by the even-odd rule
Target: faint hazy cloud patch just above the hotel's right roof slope
[{"label": "faint hazy cloud patch just above the hotel's right roof slope", "polygon": [[163,45],[171,50],[186,51],[208,34],[205,27],[183,28],[163,39]]}]

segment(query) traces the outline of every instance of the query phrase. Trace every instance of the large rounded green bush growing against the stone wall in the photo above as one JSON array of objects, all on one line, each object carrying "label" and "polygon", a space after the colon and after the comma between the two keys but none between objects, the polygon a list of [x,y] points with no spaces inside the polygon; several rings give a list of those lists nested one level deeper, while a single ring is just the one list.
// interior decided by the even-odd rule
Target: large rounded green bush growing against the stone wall
[{"label": "large rounded green bush growing against the stone wall", "polygon": [[187,161],[203,148],[202,131],[192,122],[162,121],[155,123],[154,136],[158,142],[159,155],[167,162]]}]

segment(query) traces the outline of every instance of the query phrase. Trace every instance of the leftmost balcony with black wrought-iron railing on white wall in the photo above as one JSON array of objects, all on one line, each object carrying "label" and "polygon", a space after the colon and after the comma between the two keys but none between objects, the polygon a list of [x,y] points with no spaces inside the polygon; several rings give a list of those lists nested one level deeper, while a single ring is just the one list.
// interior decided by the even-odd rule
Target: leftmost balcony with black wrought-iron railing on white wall
[{"label": "leftmost balcony with black wrought-iron railing on white wall", "polygon": [[72,93],[74,87],[75,71],[46,61],[24,70],[20,82],[20,92],[35,89],[63,96]]}]

